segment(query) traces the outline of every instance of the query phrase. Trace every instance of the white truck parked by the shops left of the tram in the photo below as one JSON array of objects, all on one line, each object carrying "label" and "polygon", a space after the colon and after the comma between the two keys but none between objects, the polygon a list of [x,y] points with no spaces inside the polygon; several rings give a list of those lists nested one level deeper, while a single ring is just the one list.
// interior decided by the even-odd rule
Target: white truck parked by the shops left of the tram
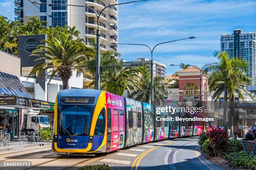
[{"label": "white truck parked by the shops left of the tram", "polygon": [[49,117],[38,115],[40,110],[24,110],[21,131],[31,133],[50,127]]}]

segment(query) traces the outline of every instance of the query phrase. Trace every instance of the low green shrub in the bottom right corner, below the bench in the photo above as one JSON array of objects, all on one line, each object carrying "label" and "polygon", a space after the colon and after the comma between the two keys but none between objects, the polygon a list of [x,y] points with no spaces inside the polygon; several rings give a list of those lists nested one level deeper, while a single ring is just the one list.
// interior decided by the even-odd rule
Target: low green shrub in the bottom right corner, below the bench
[{"label": "low green shrub in the bottom right corner, below the bench", "polygon": [[224,158],[228,160],[230,167],[256,170],[256,157],[252,152],[233,152],[226,154]]}]

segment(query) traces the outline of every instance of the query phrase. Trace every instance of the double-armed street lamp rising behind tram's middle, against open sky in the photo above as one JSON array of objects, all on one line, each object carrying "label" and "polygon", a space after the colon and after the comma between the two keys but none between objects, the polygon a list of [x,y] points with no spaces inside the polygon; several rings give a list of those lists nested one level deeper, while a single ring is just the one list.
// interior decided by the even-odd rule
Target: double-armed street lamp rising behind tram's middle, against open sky
[{"label": "double-armed street lamp rising behind tram's middle, against open sky", "polygon": [[161,42],[159,44],[156,44],[153,49],[151,49],[148,45],[146,44],[130,44],[130,43],[116,43],[116,44],[121,44],[121,45],[143,45],[143,46],[146,46],[148,47],[148,49],[150,50],[151,52],[151,104],[154,104],[154,77],[153,77],[153,66],[154,66],[154,63],[153,63],[153,52],[154,52],[154,49],[156,48],[156,46],[160,45],[160,44],[165,44],[165,43],[168,43],[168,42],[174,42],[174,41],[180,41],[180,40],[187,40],[187,39],[194,39],[195,37],[188,37],[188,38],[183,38],[183,39],[179,39],[179,40],[172,40],[172,41],[166,41],[166,42]]}]

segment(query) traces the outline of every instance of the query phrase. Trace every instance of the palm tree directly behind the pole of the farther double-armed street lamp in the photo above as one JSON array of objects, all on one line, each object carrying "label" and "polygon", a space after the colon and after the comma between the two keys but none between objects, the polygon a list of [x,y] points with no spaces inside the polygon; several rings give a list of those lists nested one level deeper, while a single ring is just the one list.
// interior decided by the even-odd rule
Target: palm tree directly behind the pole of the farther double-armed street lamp
[{"label": "palm tree directly behind the pole of the farther double-armed street lamp", "polygon": [[[151,75],[146,66],[138,67],[138,72],[140,72],[140,82],[141,89],[132,90],[130,97],[134,100],[139,100],[142,102],[150,102],[151,100]],[[154,104],[164,105],[166,100],[166,95],[168,92],[164,85],[161,83],[164,81],[163,77],[154,77]]]}]

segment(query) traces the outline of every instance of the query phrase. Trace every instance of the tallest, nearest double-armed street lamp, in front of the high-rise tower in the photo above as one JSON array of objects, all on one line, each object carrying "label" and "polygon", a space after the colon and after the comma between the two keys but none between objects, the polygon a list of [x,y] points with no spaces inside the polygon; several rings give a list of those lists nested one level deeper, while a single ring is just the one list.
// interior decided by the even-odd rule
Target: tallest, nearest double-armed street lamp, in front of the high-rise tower
[{"label": "tallest, nearest double-armed street lamp, in front of the high-rise tower", "polygon": [[104,7],[100,13],[97,13],[92,7],[89,6],[84,6],[84,5],[69,5],[69,4],[56,4],[56,3],[42,3],[40,1],[34,1],[32,2],[33,4],[49,4],[49,5],[65,5],[65,6],[74,6],[74,7],[85,7],[85,8],[89,8],[90,10],[92,10],[95,15],[97,16],[97,58],[96,58],[96,89],[100,90],[100,15],[102,14],[103,10],[105,10],[108,7],[111,6],[116,6],[116,5],[123,5],[123,4],[128,4],[128,3],[133,3],[133,2],[140,2],[140,1],[147,1],[147,0],[137,0],[137,1],[132,1],[132,2],[123,2],[123,3],[118,3],[118,4],[113,4],[113,5],[108,5],[106,7]]}]

